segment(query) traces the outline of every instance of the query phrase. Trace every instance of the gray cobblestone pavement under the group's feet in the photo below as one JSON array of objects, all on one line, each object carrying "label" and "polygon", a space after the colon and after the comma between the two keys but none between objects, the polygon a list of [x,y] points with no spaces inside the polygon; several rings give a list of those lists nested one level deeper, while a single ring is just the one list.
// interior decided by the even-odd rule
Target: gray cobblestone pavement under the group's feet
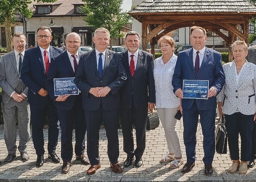
[{"label": "gray cobblestone pavement under the group's feet", "polygon": [[[183,126],[182,121],[178,121],[177,130],[180,133],[180,140],[184,153],[184,163],[186,162],[185,147],[183,143]],[[123,139],[122,131],[119,132],[119,146],[120,157],[119,162],[123,166],[126,159],[126,154],[123,152]],[[44,130],[45,134],[45,149],[47,148],[47,129]],[[246,175],[237,173],[230,174],[226,170],[231,165],[229,155],[215,154],[213,167],[214,173],[212,176],[204,175],[204,164],[202,158],[203,152],[203,136],[200,125],[198,125],[197,144],[196,144],[196,165],[193,170],[187,174],[182,174],[181,168],[171,170],[170,163],[160,164],[159,160],[162,155],[167,154],[167,143],[164,135],[164,129],[160,126],[154,130],[146,132],[146,150],[143,155],[143,165],[140,168],[135,168],[134,165],[129,168],[124,168],[122,174],[115,174],[109,167],[109,160],[107,155],[107,140],[106,133],[102,129],[100,131],[100,162],[101,168],[97,170],[96,174],[88,176],[86,170],[88,166],[81,165],[75,158],[72,160],[72,166],[68,174],[61,173],[62,161],[60,164],[54,164],[44,155],[44,166],[37,168],[35,166],[36,153],[33,148],[32,141],[28,146],[28,154],[30,160],[22,162],[20,155],[17,151],[16,159],[9,164],[0,165],[0,182],[168,182],[168,181],[196,181],[196,182],[247,182],[256,181],[255,167],[248,170]],[[73,134],[74,136],[74,134]],[[135,136],[134,136],[135,137]],[[74,139],[73,139],[74,141]],[[74,142],[73,142],[74,143]],[[18,145],[18,141],[17,141]],[[47,150],[47,149],[46,149]],[[56,151],[60,157],[60,136],[59,143]],[[6,145],[4,143],[4,129],[0,126],[0,160],[3,161],[7,155]]]}]

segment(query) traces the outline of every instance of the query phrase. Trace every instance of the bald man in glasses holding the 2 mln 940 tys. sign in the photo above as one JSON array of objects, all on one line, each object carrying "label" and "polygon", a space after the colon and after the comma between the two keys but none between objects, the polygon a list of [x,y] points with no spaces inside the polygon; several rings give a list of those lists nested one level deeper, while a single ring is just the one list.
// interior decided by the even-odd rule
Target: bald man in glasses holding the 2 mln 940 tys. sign
[{"label": "bald man in glasses holding the 2 mln 940 tys. sign", "polygon": [[88,165],[89,160],[84,156],[84,137],[86,133],[86,123],[84,110],[82,108],[82,93],[79,95],[54,94],[54,78],[73,78],[77,70],[77,65],[82,60],[82,54],[78,53],[81,38],[77,33],[70,33],[66,37],[67,50],[60,53],[51,60],[49,73],[46,81],[48,94],[54,100],[57,108],[58,118],[61,125],[61,158],[63,160],[62,172],[70,171],[71,160],[73,157],[72,133],[75,122],[75,153],[76,160]]}]

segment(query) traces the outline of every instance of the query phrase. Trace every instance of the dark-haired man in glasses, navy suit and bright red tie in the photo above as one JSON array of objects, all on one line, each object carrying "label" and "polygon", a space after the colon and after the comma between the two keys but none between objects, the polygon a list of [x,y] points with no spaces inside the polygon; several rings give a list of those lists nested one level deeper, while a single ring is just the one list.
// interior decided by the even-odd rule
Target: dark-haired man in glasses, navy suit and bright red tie
[{"label": "dark-haired man in glasses, navy suit and bright red tie", "polygon": [[51,28],[41,26],[37,30],[38,47],[28,49],[20,71],[20,78],[28,87],[28,102],[32,122],[32,140],[36,150],[36,166],[44,164],[44,132],[46,113],[48,116],[48,158],[58,163],[60,159],[55,153],[60,131],[57,109],[46,91],[46,76],[51,57],[63,50],[50,46]]}]

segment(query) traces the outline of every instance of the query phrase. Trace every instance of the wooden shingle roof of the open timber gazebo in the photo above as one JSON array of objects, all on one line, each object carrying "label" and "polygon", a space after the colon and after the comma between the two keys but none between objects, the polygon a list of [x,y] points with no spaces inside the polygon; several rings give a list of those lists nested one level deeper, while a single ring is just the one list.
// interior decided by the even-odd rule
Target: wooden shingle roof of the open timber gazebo
[{"label": "wooden shingle roof of the open timber gazebo", "polygon": [[247,0],[144,0],[129,14],[151,13],[256,13]]}]

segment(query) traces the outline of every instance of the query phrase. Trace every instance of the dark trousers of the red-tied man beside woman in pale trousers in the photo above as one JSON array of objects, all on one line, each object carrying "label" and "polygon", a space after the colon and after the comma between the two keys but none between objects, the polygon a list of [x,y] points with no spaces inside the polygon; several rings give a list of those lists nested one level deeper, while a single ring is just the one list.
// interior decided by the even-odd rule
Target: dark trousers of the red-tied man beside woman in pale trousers
[{"label": "dark trousers of the red-tied man beside woman in pale trousers", "polygon": [[[124,152],[127,157],[142,157],[146,148],[146,124],[148,108],[135,109],[132,104],[131,109],[120,110],[120,121],[123,133]],[[136,149],[134,150],[133,125],[136,132]]]}]

